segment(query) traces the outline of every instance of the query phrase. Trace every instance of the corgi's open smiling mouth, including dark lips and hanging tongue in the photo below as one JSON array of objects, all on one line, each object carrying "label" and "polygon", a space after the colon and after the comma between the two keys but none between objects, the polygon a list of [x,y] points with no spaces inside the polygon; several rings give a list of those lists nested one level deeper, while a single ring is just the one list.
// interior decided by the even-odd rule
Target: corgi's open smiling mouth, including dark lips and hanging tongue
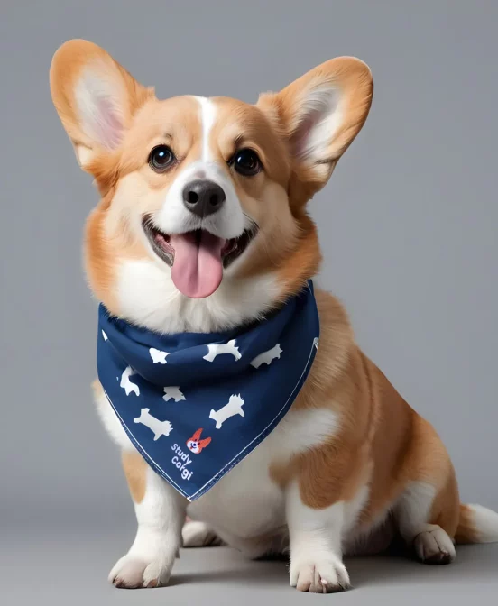
[{"label": "corgi's open smiling mouth, including dark lips and hanging tongue", "polygon": [[218,288],[223,269],[244,253],[257,228],[246,229],[230,240],[204,229],[164,234],[152,223],[151,216],[144,216],[143,231],[154,253],[171,266],[171,278],[177,289],[189,298],[205,298]]}]

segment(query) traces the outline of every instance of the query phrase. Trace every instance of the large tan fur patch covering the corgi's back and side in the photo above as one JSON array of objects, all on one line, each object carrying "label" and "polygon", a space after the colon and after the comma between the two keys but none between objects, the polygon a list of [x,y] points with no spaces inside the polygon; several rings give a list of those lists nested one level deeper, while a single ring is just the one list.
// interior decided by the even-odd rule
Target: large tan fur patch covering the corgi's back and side
[{"label": "large tan fur patch covering the corgi's back and side", "polygon": [[430,523],[454,537],[459,499],[444,445],[358,349],[337,300],[318,290],[317,301],[320,346],[295,406],[327,406],[337,412],[341,429],[327,445],[273,467],[273,477],[281,484],[298,477],[303,502],[318,509],[351,500],[368,483],[370,497],[360,517],[364,528],[410,482],[429,482],[438,490]]}]

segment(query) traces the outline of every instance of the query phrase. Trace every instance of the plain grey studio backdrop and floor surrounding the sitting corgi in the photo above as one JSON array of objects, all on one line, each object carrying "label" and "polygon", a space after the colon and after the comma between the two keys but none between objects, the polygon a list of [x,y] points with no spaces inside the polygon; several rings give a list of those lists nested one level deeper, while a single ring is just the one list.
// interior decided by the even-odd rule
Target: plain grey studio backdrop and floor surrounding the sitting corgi
[{"label": "plain grey studio backdrop and floor surrounding the sitting corgi", "polygon": [[[322,284],[346,303],[364,351],[438,428],[463,500],[498,510],[497,23],[492,0],[3,0],[0,601],[312,599],[291,592],[283,565],[224,550],[184,554],[159,596],[106,585],[134,514],[90,399],[97,304],[80,248],[97,192],[48,83],[69,38],[97,42],[159,96],[252,102],[337,55],[371,66],[371,115],[311,205]],[[484,600],[498,551],[459,555],[444,570],[352,562],[358,589],[331,599],[431,603],[459,581],[454,603],[475,589]]]}]

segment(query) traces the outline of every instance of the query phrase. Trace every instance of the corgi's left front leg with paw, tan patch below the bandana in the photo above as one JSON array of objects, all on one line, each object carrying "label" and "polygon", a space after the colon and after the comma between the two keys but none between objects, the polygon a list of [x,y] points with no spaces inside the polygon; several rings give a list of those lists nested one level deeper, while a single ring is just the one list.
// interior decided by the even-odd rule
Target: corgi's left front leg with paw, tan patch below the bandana
[{"label": "corgi's left front leg with paw, tan patch below the bandana", "polygon": [[152,471],[135,451],[124,451],[124,472],[134,500],[138,529],[134,544],[109,580],[116,587],[158,587],[170,580],[181,546],[187,500]]}]

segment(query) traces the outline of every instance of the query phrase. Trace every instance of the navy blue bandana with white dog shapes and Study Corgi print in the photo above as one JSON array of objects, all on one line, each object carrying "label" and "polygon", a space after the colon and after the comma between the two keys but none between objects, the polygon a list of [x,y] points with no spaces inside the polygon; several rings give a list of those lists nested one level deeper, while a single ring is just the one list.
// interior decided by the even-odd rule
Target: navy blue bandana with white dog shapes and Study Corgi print
[{"label": "navy blue bandana with white dog shapes and Study Corgi print", "polygon": [[224,333],[160,335],[100,305],[98,378],[147,463],[196,500],[291,408],[318,335],[311,282],[263,321]]}]

